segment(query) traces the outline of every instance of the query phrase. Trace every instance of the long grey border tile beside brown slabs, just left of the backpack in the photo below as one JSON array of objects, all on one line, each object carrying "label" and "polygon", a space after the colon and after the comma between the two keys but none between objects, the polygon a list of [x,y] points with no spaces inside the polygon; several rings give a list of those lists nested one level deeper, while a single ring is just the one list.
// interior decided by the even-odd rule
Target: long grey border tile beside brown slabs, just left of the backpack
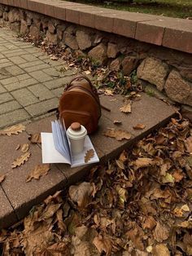
[{"label": "long grey border tile beside brown slabs, just left of the backpack", "polygon": [[52,108],[58,107],[59,99],[53,98],[53,99],[47,99],[45,101],[41,101],[40,103],[30,105],[26,107],[26,111],[32,116],[38,116],[43,113],[46,113],[48,110]]}]

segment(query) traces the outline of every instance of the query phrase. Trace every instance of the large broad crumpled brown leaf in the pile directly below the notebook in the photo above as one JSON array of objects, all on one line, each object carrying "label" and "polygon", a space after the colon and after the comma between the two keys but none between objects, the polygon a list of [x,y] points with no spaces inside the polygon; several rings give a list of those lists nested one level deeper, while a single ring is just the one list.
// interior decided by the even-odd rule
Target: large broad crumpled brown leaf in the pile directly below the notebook
[{"label": "large broad crumpled brown leaf in the pile directly below the notebook", "polygon": [[90,197],[94,192],[94,186],[92,183],[83,182],[77,186],[71,186],[68,192],[72,201],[76,202],[79,207],[82,207],[90,201]]}]

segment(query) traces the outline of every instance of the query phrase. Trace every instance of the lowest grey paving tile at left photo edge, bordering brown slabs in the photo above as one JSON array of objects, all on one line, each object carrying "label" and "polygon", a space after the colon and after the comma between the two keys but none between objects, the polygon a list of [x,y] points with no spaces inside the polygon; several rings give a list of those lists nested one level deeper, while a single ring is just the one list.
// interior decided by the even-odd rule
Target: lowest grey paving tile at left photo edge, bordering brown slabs
[{"label": "lowest grey paving tile at left photo edge, bordering brown slabs", "polygon": [[20,121],[25,121],[30,116],[24,109],[17,109],[10,113],[5,113],[0,116],[0,128],[12,126]]}]

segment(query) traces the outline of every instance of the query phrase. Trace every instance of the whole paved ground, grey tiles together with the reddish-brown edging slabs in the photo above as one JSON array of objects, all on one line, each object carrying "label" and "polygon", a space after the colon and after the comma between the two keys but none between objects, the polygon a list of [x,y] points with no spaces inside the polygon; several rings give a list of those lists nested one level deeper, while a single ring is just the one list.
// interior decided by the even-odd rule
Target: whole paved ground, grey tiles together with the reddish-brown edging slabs
[{"label": "whole paved ground, grey tiles together with the reddish-brown edging slabs", "polygon": [[[51,132],[50,121],[55,119],[55,115],[45,117],[45,113],[58,105],[62,85],[78,72],[71,68],[59,73],[61,61],[50,60],[40,49],[30,43],[18,42],[14,36],[15,33],[7,29],[0,29],[0,128],[18,122],[27,124],[26,130],[20,135],[0,136],[0,175],[6,175],[0,184],[0,228],[18,222],[33,205],[79,181],[89,174],[92,167],[51,165],[46,176],[26,183],[30,171],[41,164],[41,144],[31,143],[28,161],[20,167],[11,168],[11,163],[22,155],[20,149],[15,148],[18,144],[29,143],[28,135]],[[111,109],[111,113],[103,110],[98,131],[90,136],[100,163],[116,157],[124,148],[129,148],[175,115],[171,106],[144,93],[141,94],[141,100],[133,102],[129,115],[120,113],[120,107],[124,104],[122,96],[103,95],[100,99],[104,106]],[[114,120],[121,121],[122,125],[117,127]],[[146,128],[134,130],[133,126],[138,123],[144,124]],[[107,127],[128,130],[132,138],[122,141],[108,138],[103,135]]]}]

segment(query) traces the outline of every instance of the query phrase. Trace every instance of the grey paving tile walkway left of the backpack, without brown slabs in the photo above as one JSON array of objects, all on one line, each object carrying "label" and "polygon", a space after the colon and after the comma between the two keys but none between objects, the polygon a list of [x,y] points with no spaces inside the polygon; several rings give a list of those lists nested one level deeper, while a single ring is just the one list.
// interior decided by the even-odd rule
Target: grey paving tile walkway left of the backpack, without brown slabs
[{"label": "grey paving tile walkway left of the backpack, without brown slabs", "polygon": [[78,73],[76,68],[59,72],[63,64],[31,43],[20,42],[15,32],[0,29],[0,128],[58,106],[63,85]]}]

